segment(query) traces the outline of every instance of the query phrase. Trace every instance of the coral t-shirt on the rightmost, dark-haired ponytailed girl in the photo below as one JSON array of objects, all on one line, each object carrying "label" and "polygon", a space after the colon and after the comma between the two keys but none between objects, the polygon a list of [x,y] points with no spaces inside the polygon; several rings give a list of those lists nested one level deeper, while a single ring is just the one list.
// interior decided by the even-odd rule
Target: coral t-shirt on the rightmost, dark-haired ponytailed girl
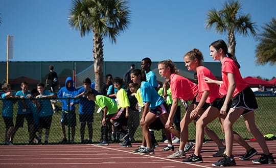
[{"label": "coral t-shirt on the rightmost, dark-haired ponytailed girl", "polygon": [[228,73],[234,74],[234,77],[235,77],[236,88],[232,95],[232,97],[235,97],[239,92],[241,92],[243,89],[245,89],[248,86],[248,83],[246,83],[242,79],[240,70],[236,65],[236,63],[231,58],[225,57],[223,64],[221,66],[221,76],[222,76],[223,85],[226,88],[226,90],[229,87],[229,80],[227,77]]}]

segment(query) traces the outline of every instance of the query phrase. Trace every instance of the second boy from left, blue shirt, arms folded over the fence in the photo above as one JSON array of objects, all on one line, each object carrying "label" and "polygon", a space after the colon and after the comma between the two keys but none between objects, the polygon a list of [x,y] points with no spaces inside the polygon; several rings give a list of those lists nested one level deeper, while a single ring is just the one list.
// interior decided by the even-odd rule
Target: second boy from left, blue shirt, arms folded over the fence
[{"label": "second boy from left, blue shirt, arms folded over the fence", "polygon": [[29,98],[32,93],[28,91],[29,84],[28,82],[22,82],[21,83],[21,89],[16,92],[16,98],[20,98],[20,101],[18,101],[17,106],[17,116],[16,116],[16,122],[15,122],[15,128],[13,131],[13,135],[11,139],[13,140],[15,133],[20,127],[23,127],[24,125],[24,119],[27,119],[28,122],[28,128],[29,128],[29,144],[33,143],[33,131],[34,131],[34,121],[33,121],[33,114],[31,111],[32,101],[31,100],[25,100],[26,98]]}]

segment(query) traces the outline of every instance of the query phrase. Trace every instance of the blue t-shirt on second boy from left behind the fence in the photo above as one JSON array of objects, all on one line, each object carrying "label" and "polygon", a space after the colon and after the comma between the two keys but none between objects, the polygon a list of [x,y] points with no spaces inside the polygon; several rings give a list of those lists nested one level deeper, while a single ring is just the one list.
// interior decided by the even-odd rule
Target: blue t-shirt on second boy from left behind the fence
[{"label": "blue t-shirt on second boy from left behind the fence", "polygon": [[[15,95],[18,95],[18,97],[23,96],[24,98],[28,98],[28,97],[27,97],[28,94],[31,94],[31,95],[32,95],[32,92],[27,91],[26,94],[25,94],[25,93],[23,93],[22,90],[19,90],[19,91],[16,92]],[[21,101],[24,101],[25,105],[28,107],[27,109],[24,107],[24,105],[22,104]],[[19,99],[17,102],[18,102],[17,114],[28,114],[28,113],[32,113],[32,111],[31,111],[31,107],[32,107],[32,105],[33,105],[32,100],[30,100],[30,99],[29,99],[29,100],[27,100],[27,99],[25,99],[25,100],[24,100],[24,99]]]}]

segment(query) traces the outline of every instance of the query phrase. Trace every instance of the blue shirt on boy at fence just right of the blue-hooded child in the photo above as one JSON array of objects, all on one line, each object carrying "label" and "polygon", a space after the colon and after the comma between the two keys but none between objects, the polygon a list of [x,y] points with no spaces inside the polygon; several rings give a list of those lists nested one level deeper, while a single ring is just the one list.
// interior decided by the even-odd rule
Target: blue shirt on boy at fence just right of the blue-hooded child
[{"label": "blue shirt on boy at fence just right of the blue-hooded child", "polygon": [[[80,88],[78,90],[77,95],[84,91],[86,91],[86,89],[84,87]],[[93,89],[93,91],[95,94],[101,94],[95,89]],[[95,110],[95,102],[91,101],[91,100],[89,101],[88,99],[86,99],[85,94],[82,95],[82,98],[84,98],[84,99],[80,99],[80,100],[76,101],[76,103],[80,104],[79,114],[93,114],[94,110]]]}]

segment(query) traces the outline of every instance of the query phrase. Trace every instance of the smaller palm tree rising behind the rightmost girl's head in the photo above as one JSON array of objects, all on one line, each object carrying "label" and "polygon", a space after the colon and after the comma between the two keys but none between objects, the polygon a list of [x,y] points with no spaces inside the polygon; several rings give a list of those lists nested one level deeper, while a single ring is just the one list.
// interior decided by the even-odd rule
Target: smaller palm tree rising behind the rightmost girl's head
[{"label": "smaller palm tree rising behind the rightmost girl's head", "polygon": [[242,4],[240,1],[227,1],[223,5],[222,10],[212,9],[206,14],[205,28],[211,29],[214,27],[217,33],[227,33],[228,35],[228,50],[235,57],[236,37],[235,33],[242,35],[257,35],[256,22],[251,22],[250,15],[242,15],[240,12]]}]

